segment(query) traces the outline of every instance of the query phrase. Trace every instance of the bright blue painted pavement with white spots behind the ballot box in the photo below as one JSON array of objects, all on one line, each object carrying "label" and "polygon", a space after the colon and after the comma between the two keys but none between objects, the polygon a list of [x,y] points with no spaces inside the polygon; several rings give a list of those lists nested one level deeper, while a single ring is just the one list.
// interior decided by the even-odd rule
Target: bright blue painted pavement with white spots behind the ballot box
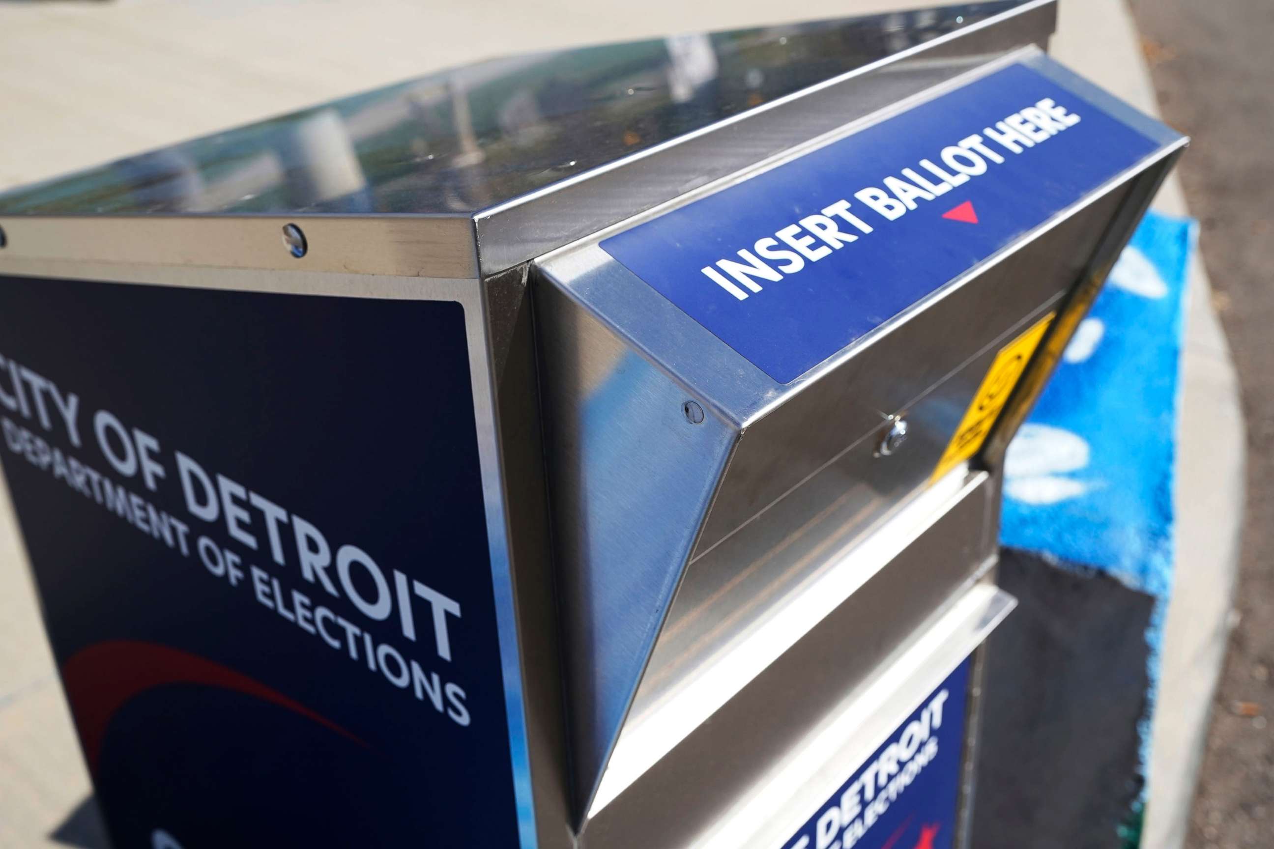
[{"label": "bright blue painted pavement with white spots behind the ballot box", "polygon": [[1177,410],[1190,219],[1150,213],[1019,430],[1005,465],[1004,545],[1172,584]]}]

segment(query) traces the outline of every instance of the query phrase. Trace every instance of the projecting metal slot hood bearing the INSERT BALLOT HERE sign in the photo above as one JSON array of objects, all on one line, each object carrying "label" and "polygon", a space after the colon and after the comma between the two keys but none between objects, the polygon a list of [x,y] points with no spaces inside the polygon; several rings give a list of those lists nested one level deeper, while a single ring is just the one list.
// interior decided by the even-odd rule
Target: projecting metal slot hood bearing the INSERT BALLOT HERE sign
[{"label": "projecting metal slot hood bearing the INSERT BALLOT HERE sign", "polygon": [[1065,341],[1184,144],[1028,46],[533,263],[581,820],[629,728],[943,476],[1015,340]]}]

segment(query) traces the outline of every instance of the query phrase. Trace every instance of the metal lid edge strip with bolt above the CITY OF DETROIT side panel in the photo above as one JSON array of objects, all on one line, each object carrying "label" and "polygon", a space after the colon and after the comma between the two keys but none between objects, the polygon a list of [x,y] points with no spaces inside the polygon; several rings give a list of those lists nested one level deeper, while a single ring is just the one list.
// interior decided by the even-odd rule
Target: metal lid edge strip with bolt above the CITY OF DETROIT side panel
[{"label": "metal lid edge strip with bolt above the CITY OF DETROIT side panel", "polygon": [[[297,223],[297,258],[283,228]],[[22,260],[206,269],[260,269],[403,277],[476,277],[473,220],[465,215],[103,215],[0,216],[0,274]]]}]

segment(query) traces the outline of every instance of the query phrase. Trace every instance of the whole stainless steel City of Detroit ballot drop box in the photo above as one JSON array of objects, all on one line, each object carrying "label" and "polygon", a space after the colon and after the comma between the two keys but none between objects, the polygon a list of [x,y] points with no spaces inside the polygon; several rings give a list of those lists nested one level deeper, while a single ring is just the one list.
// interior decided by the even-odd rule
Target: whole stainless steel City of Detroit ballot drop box
[{"label": "whole stainless steel City of Detroit ballot drop box", "polygon": [[1004,451],[1185,144],[1055,15],[494,60],[0,197],[115,844],[964,845]]}]

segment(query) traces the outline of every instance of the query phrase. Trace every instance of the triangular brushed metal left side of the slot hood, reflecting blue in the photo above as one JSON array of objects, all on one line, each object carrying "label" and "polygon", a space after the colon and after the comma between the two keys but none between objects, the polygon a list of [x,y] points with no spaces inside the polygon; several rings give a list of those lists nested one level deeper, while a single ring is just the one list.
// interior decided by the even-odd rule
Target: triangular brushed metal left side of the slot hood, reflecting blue
[{"label": "triangular brushed metal left side of the slot hood, reflecting blue", "polygon": [[736,433],[554,286],[536,289],[576,806],[583,811]]}]

